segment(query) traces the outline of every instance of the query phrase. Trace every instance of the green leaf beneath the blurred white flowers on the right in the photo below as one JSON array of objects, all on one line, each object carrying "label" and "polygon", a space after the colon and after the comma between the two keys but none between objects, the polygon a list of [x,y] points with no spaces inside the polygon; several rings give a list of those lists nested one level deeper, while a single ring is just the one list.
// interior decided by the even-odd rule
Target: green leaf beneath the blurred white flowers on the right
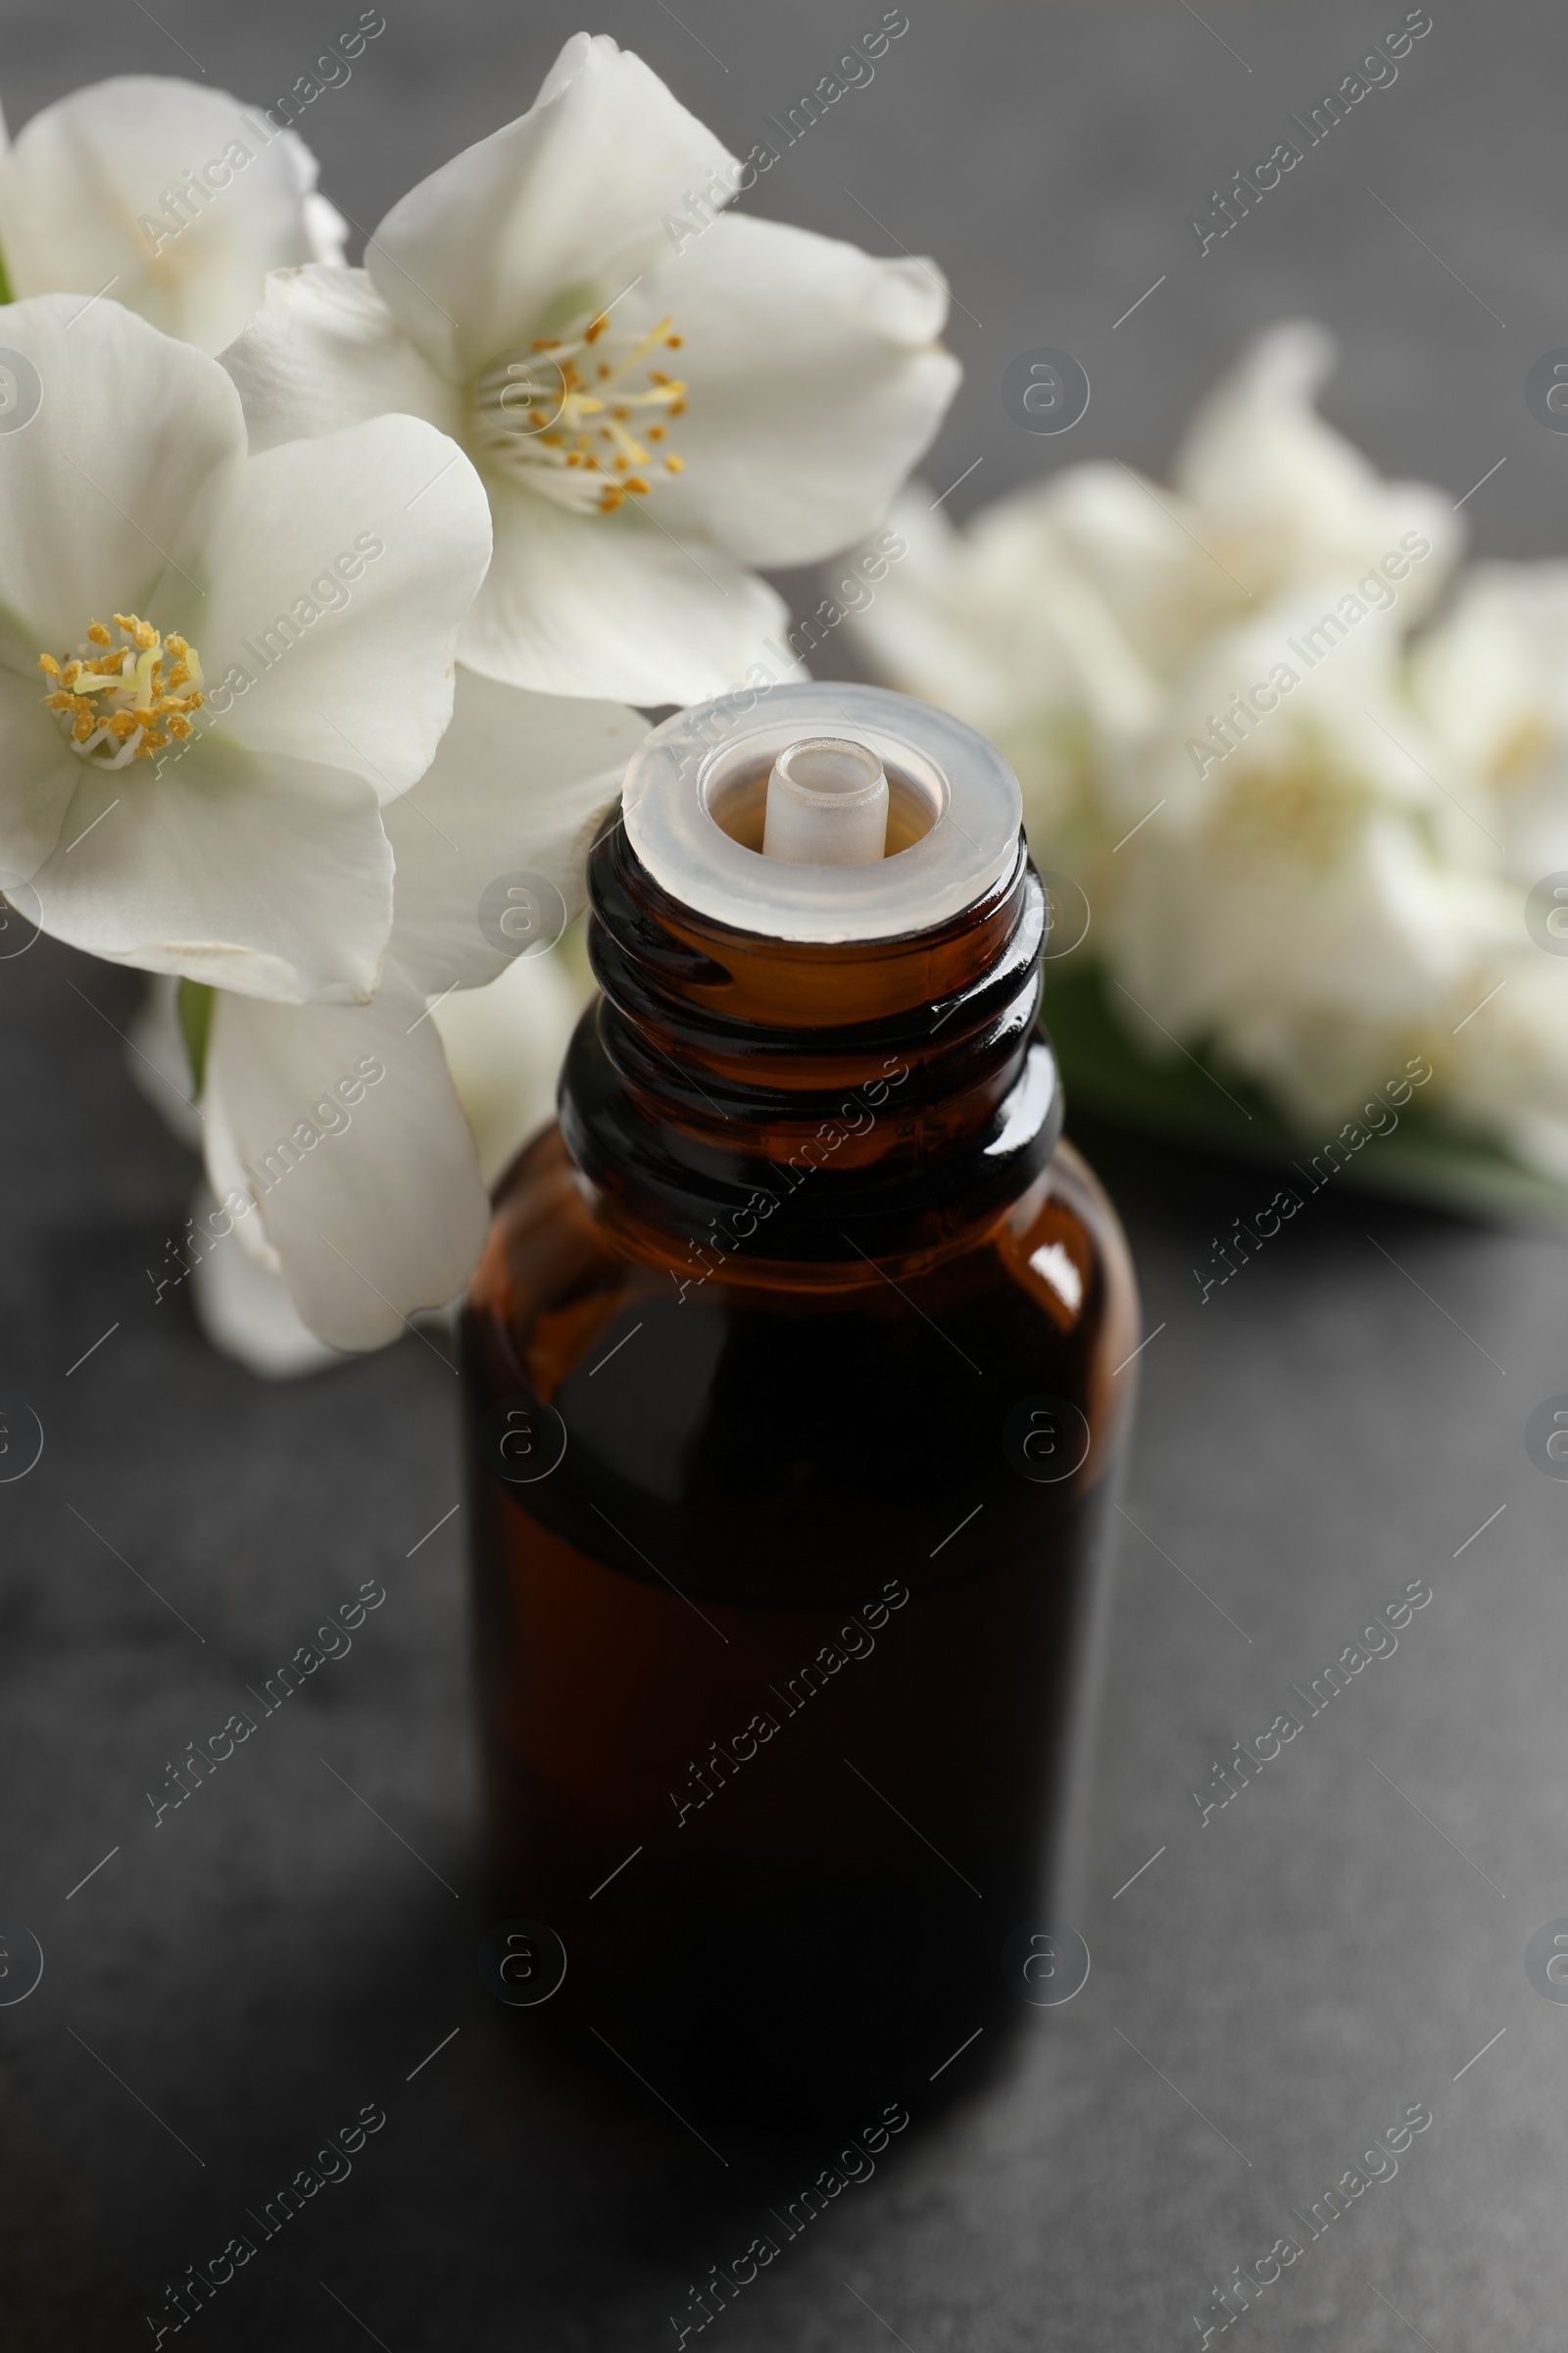
[{"label": "green leaf beneath the blurred white flowers on the right", "polygon": [[[1340,1122],[1326,1120],[1316,1134],[1300,1127],[1208,1045],[1199,1045],[1194,1059],[1182,1052],[1161,1061],[1147,1056],[1117,1014],[1117,984],[1098,965],[1077,958],[1072,969],[1046,965],[1041,1021],[1070,1111],[1079,1104],[1124,1127],[1298,1174],[1338,1141]],[[1312,1181],[1321,1181],[1321,1169]],[[1568,1188],[1526,1167],[1486,1129],[1446,1118],[1420,1096],[1399,1108],[1396,1129],[1368,1134],[1335,1165],[1335,1184],[1497,1224],[1568,1228]]]}]

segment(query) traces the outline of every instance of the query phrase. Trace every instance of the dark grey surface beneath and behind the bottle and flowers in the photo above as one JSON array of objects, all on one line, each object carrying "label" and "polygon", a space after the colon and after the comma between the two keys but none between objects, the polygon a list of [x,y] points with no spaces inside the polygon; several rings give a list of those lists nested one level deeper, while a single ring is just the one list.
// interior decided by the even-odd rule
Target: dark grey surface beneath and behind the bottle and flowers
[{"label": "dark grey surface beneath and behind the bottle and flowers", "polygon": [[[266,101],[355,14],[92,0],[66,21],[12,0],[0,87],[12,125],[115,71],[200,64]],[[682,0],[677,21],[646,0],[592,24],[745,146],[877,14]],[[983,459],[954,511],[1100,449],[1161,464],[1239,339],[1307,311],[1345,339],[1328,412],[1385,471],[1458,499],[1507,456],[1465,508],[1476,544],[1559,553],[1568,438],[1521,386],[1568,341],[1568,24],[1500,0],[1432,14],[1399,82],[1204,261],[1187,214],[1403,16],[1394,0],[1206,0],[1201,19],[910,0],[872,87],[769,174],[764,209],[947,268],[969,376],[929,473]],[[386,35],[303,122],[327,191],[374,226],[529,101],[567,31],[388,0]],[[1030,344],[1093,379],[1063,442],[1001,414]],[[409,1558],[456,1501],[456,1384],[414,1339],[273,1391],[202,1348],[179,1294],[153,1308],[188,1162],[122,1073],[134,993],[49,944],[0,965],[0,1393],[47,1431],[0,1487],[0,1925],[12,1967],[24,1929],[47,1955],[0,2009],[5,2344],[150,2344],[162,2282],[378,2101],[353,2179],[221,2292],[202,2341],[672,2346],[686,2285],[832,2146],[736,2137],[722,2172],[635,2082],[552,2073],[489,2007],[461,1518]],[[910,2353],[1197,2344],[1211,2282],[1300,2238],[1291,2209],[1427,2101],[1399,2177],[1241,2327],[1258,2348],[1556,2348],[1568,2007],[1530,1988],[1523,1948],[1568,1913],[1568,1487],[1523,1428],[1568,1388],[1563,1247],[1321,1195],[1199,1308],[1192,1266],[1265,1181],[1088,1144],[1164,1325],[1077,1922],[1093,1974],[997,2089],[905,2137],[715,2329],[748,2353],[889,2329]],[[165,1758],[364,1577],[388,1602],[353,1657],[153,1831]],[[1399,1654],[1199,1828],[1211,1760],[1408,1579],[1434,1602]]]}]

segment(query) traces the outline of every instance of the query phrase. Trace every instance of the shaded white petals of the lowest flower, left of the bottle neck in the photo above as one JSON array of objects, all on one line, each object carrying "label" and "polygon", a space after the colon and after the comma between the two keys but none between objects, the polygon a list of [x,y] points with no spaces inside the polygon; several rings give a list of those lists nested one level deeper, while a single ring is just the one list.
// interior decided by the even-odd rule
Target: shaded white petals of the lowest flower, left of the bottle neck
[{"label": "shaded white petals of the lowest flower, left of the bottle neck", "polygon": [[[508,972],[515,948],[496,904],[512,885],[557,920],[581,908],[588,845],[644,732],[616,704],[461,671],[430,772],[383,812],[397,887],[371,1002],[214,995],[200,1122],[221,1209],[195,1257],[212,1257],[207,1282],[233,1313],[263,1297],[216,1268],[235,1242],[282,1278],[296,1318],[331,1348],[381,1348],[463,1287],[489,1228],[487,1179],[534,1120],[569,991],[557,972],[541,979],[536,958]],[[494,1005],[468,1009],[458,991]],[[155,1035],[136,1047],[169,1113],[190,1087],[167,1007],[162,1047]]]}]

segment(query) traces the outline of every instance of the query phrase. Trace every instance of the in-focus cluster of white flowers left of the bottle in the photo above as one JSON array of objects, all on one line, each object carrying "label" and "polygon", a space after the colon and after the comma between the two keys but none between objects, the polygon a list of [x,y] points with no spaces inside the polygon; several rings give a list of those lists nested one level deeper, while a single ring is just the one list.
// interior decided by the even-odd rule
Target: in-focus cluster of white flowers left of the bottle
[{"label": "in-focus cluster of white flowers left of the bottle", "polygon": [[195,1099],[205,1238],[287,1285],[275,1365],[461,1289],[571,1000],[449,1002],[515,955],[487,894],[581,908],[628,706],[733,685],[785,621],[752,567],[863,539],[952,398],[929,264],[670,235],[736,179],[585,33],[364,268],[212,89],[103,82],[0,151],[0,889],[179,979],[193,1082],[141,1066]]}]

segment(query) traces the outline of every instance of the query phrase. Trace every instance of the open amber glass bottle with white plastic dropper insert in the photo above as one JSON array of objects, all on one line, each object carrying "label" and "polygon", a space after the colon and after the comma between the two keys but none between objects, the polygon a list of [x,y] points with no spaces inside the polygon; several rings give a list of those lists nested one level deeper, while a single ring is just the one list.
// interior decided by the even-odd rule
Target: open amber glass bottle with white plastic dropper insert
[{"label": "open amber glass bottle with white plastic dropper insert", "polygon": [[[1011,772],[903,696],[745,701],[658,729],[592,852],[602,995],[465,1381],[498,1908],[562,1939],[552,2017],[762,2125],[1027,2017],[1138,1308]],[[875,866],[759,849],[825,732],[886,765]]]}]

